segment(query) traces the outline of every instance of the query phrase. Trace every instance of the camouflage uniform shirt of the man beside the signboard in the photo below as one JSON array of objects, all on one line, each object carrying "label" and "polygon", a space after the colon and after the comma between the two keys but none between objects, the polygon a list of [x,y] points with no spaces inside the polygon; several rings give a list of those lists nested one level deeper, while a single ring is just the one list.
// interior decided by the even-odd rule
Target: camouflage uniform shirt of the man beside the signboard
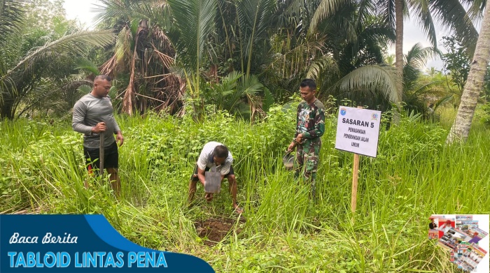
[{"label": "camouflage uniform shirt of the man beside the signboard", "polygon": [[302,101],[297,105],[296,133],[294,137],[303,133],[304,139],[320,138],[325,133],[325,106],[318,98],[308,105]]}]

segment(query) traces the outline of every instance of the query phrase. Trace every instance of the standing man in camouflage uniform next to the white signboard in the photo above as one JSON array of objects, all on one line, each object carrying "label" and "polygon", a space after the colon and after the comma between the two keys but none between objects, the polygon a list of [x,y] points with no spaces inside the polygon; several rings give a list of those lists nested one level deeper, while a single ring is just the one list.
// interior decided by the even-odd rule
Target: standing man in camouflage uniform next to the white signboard
[{"label": "standing man in camouflage uniform next to the white signboard", "polygon": [[314,80],[302,80],[300,93],[304,101],[297,105],[296,133],[288,151],[297,147],[296,175],[299,177],[302,171],[304,181],[311,182],[311,195],[314,197],[321,136],[325,133],[325,106],[315,97]]}]

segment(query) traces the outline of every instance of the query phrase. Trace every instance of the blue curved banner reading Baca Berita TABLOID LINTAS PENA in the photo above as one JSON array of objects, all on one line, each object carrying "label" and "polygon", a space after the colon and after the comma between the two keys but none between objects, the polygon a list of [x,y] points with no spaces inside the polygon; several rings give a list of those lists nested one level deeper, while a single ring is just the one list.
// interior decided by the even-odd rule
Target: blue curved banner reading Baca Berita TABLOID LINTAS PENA
[{"label": "blue curved banner reading Baca Berita TABLOID LINTAS PENA", "polygon": [[214,272],[204,260],[146,249],[102,215],[0,215],[0,272]]}]

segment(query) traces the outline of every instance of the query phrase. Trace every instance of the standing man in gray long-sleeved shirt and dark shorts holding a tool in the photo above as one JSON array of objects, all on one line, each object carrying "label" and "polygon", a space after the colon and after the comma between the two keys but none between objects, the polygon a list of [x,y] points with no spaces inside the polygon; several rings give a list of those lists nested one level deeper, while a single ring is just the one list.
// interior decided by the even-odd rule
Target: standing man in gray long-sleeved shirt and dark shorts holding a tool
[{"label": "standing man in gray long-sleeved shirt and dark shorts holding a tool", "polygon": [[[74,131],[83,133],[83,154],[87,160],[87,168],[92,173],[99,170],[99,145],[101,135],[104,138],[104,167],[109,172],[111,186],[116,195],[120,193],[118,176],[119,154],[118,145],[123,145],[124,138],[116,119],[113,116],[111,99],[107,96],[111,89],[111,78],[98,75],[94,79],[94,88],[73,106]],[[116,139],[114,139],[116,134]],[[88,184],[85,182],[85,187]]]}]

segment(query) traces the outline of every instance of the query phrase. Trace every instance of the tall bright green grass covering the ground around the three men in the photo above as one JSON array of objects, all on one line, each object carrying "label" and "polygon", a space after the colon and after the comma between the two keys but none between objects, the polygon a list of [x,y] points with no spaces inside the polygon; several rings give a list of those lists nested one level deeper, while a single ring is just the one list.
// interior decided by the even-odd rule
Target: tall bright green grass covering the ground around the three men
[{"label": "tall bright green grass covering the ground around the three men", "polygon": [[[216,272],[456,272],[449,253],[427,239],[428,216],[490,211],[490,134],[484,126],[474,126],[464,145],[446,147],[452,121],[407,117],[389,129],[384,122],[377,158],[361,157],[353,215],[353,155],[334,148],[335,117],[326,122],[316,203],[309,187],[281,165],[295,112],[275,109],[253,126],[225,113],[201,124],[158,115],[118,121],[125,135],[119,200],[103,179],[87,177],[82,136],[68,122],[2,121],[0,211],[104,214],[133,242],[192,254]],[[212,247],[197,236],[194,223],[236,219],[228,184],[213,202],[200,199],[191,208],[186,202],[190,173],[211,140],[228,145],[235,158],[247,219],[235,225],[241,233]],[[88,190],[85,179],[92,184]],[[196,196],[202,195],[198,186]]]}]

